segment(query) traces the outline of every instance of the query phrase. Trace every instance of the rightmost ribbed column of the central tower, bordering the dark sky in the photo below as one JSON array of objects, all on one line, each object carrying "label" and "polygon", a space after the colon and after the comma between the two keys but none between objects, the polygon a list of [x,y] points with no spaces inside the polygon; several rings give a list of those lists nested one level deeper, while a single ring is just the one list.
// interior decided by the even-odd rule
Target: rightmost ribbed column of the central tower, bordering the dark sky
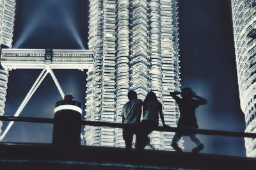
[{"label": "rightmost ribbed column of the central tower, bordering the dark sky", "polygon": [[[179,107],[170,96],[171,91],[180,90],[177,8],[177,0],[161,0],[164,120],[172,127],[176,127],[179,120]],[[173,132],[164,132],[165,150],[172,150],[173,135]]]}]

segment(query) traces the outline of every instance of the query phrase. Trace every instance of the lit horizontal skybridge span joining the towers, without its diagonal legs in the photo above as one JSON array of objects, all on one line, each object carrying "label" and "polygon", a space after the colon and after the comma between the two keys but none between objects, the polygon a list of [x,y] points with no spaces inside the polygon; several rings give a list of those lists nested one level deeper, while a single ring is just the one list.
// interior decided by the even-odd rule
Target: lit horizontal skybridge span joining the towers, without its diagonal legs
[{"label": "lit horizontal skybridge span joining the towers, without its diagonal legs", "polygon": [[2,49],[4,70],[15,69],[79,69],[93,66],[93,50]]}]

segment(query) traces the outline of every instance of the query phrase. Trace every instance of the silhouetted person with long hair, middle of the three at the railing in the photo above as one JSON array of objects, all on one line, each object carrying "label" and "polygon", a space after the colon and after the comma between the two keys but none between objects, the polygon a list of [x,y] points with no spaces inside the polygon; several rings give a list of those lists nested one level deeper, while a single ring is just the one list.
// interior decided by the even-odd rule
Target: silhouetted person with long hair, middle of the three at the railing
[{"label": "silhouetted person with long hair, middle of the three at the railing", "polygon": [[135,145],[137,149],[143,149],[150,143],[148,134],[158,126],[159,116],[163,126],[165,126],[162,104],[158,102],[156,94],[150,91],[143,102],[143,120],[140,124],[140,131],[138,132]]}]

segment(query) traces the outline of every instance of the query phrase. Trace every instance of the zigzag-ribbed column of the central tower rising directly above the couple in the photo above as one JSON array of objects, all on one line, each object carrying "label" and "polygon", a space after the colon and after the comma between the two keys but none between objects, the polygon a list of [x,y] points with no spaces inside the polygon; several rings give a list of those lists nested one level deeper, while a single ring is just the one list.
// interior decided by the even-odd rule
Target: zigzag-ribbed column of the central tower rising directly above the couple
[{"label": "zigzag-ribbed column of the central tower rising directly above the couple", "polygon": [[132,1],[131,88],[138,98],[148,93],[147,0]]}]

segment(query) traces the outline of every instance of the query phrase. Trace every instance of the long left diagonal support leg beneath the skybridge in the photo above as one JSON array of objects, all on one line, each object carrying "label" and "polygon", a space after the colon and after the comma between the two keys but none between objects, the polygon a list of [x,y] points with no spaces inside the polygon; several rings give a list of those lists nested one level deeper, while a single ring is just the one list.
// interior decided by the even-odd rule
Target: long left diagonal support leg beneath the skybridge
[{"label": "long left diagonal support leg beneath the skybridge", "polygon": [[[34,82],[33,86],[31,87],[31,89],[29,90],[28,94],[26,95],[26,97],[24,98],[24,100],[22,101],[22,103],[20,104],[19,108],[17,109],[17,111],[15,112],[14,116],[19,116],[20,112],[22,112],[22,110],[24,109],[24,107],[26,106],[26,104],[28,103],[29,99],[32,97],[32,95],[35,93],[36,89],[40,86],[40,84],[42,83],[42,81],[44,81],[44,78],[47,75],[47,71],[46,68],[44,68],[44,70],[42,70],[42,72],[40,73],[40,75],[38,76],[38,78],[36,79],[36,81]],[[12,127],[14,121],[10,121],[7,125],[7,127],[5,128],[3,134],[0,136],[0,141],[3,140],[4,136],[8,133],[8,131],[10,130],[10,128]]]}]

